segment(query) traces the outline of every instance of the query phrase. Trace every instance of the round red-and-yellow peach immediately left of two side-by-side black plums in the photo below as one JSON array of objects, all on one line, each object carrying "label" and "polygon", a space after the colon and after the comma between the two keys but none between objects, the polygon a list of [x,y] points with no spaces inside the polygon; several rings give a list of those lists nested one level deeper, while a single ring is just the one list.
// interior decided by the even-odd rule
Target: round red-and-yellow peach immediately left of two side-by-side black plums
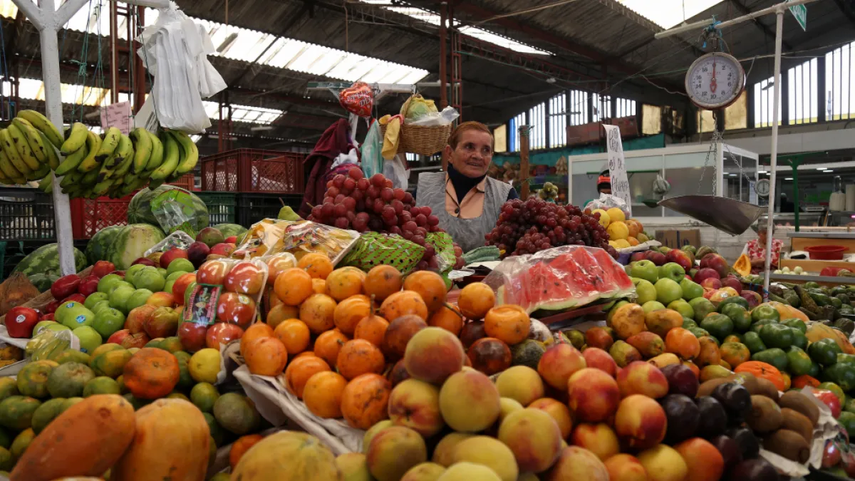
[{"label": "round red-and-yellow peach immediately left of two side-by-side black plums", "polygon": [[665,410],[646,395],[629,395],[617,407],[615,431],[630,448],[656,446],[665,438],[667,427]]}]

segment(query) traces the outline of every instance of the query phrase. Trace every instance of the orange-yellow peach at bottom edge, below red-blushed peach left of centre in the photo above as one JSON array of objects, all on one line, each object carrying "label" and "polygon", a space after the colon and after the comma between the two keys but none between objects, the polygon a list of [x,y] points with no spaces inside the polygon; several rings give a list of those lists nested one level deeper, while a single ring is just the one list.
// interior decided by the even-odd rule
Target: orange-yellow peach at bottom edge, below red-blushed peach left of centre
[{"label": "orange-yellow peach at bottom edge, below red-blushed peach left of centre", "polygon": [[392,426],[371,439],[366,460],[377,481],[399,481],[411,467],[428,460],[428,447],[416,431]]}]

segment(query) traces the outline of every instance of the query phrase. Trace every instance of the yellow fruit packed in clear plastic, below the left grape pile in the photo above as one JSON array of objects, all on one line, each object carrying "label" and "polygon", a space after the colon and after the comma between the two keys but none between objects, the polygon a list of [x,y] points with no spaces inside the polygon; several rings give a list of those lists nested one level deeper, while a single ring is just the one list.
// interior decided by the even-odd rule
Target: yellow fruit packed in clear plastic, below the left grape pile
[{"label": "yellow fruit packed in clear plastic, below the left grape pile", "polygon": [[337,264],[359,238],[355,230],[334,228],[311,221],[263,219],[252,224],[233,258],[257,258],[291,252],[296,258],[310,252],[323,252]]}]

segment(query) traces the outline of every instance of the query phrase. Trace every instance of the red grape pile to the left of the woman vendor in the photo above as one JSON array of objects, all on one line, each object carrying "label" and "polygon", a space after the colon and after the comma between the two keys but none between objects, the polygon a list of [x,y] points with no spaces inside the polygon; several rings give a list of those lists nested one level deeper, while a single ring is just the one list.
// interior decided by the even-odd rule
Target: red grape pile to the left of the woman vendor
[{"label": "red grape pile to the left of the woman vendor", "polygon": [[[430,207],[417,207],[411,193],[393,188],[392,181],[382,174],[365,178],[363,170],[353,167],[347,175],[336,175],[327,181],[323,204],[315,205],[309,220],[339,229],[357,232],[397,234],[425,248],[417,269],[439,269],[436,250],[426,241],[429,232],[439,229],[439,217]],[[463,251],[454,245],[455,268],[463,267]]]}]

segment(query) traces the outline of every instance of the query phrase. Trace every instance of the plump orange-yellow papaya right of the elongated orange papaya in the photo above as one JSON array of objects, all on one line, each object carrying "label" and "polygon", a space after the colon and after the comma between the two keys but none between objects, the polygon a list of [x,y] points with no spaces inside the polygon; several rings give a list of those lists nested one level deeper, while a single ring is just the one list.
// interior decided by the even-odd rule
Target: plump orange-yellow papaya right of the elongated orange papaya
[{"label": "plump orange-yellow papaya right of the elongated orange papaya", "polygon": [[158,399],[137,411],[136,425],[133,442],[110,472],[112,481],[204,481],[211,436],[191,402]]}]

